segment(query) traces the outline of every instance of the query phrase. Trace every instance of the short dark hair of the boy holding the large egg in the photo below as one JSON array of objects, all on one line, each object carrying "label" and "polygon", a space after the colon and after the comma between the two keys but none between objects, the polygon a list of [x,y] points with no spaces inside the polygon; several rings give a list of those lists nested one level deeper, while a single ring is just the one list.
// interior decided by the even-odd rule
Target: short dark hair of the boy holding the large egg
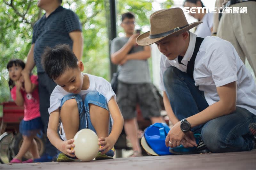
[{"label": "short dark hair of the boy holding the large egg", "polygon": [[55,80],[66,70],[77,68],[77,58],[67,44],[59,44],[54,48],[46,47],[42,55],[42,65],[46,74]]}]

